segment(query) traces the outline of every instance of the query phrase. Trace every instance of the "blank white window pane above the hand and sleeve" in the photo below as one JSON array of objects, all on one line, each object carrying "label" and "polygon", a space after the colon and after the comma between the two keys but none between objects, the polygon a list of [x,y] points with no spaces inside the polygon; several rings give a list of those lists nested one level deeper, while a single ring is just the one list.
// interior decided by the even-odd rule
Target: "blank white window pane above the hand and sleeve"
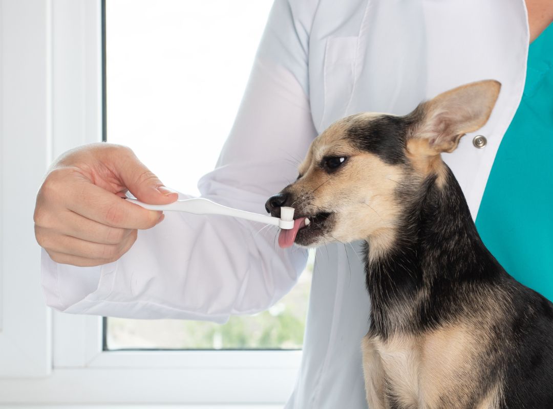
[{"label": "blank white window pane above the hand and sleeve", "polygon": [[[231,129],[272,0],[107,0],[107,137],[197,195]],[[187,154],[189,153],[189,154]]]}]

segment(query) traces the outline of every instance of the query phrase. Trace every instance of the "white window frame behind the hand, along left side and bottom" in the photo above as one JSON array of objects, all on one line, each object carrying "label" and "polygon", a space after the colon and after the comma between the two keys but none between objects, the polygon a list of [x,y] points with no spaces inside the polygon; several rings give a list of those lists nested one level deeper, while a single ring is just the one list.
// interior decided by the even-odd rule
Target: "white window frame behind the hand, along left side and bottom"
[{"label": "white window frame behind the hand, along left side and bottom", "polygon": [[282,405],[301,351],[106,352],[101,317],[45,306],[34,199],[55,157],[101,140],[101,1],[0,0],[0,23],[0,404]]}]

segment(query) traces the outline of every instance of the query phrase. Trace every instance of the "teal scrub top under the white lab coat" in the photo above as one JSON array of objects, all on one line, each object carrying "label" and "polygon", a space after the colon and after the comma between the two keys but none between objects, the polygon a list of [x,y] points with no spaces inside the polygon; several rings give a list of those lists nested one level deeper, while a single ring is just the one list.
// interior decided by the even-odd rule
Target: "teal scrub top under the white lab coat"
[{"label": "teal scrub top under the white lab coat", "polygon": [[510,275],[553,301],[553,24],[530,44],[524,94],[476,227]]}]

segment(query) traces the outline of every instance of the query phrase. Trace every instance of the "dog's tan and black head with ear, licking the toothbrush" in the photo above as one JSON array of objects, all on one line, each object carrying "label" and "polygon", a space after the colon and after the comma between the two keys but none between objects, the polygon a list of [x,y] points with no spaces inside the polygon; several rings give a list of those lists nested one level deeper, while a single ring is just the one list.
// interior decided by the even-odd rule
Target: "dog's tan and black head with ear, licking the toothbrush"
[{"label": "dog's tan and black head with ear, licking the toothbrush", "polygon": [[444,183],[440,153],[452,152],[463,135],[486,123],[499,89],[497,81],[481,81],[440,94],[409,115],[362,113],[336,121],[312,142],[298,179],[267,201],[273,216],[291,206],[295,219],[310,220],[281,232],[281,247],[368,240],[385,249],[424,180]]}]

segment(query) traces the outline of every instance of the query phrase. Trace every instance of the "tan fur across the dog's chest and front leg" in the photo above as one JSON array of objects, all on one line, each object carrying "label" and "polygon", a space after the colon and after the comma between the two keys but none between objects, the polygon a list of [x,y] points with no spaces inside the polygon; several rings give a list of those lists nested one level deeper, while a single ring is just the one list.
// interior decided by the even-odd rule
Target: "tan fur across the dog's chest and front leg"
[{"label": "tan fur across the dog's chest and front leg", "polygon": [[[383,342],[366,336],[362,341],[363,373],[369,407],[390,406],[383,379],[401,407],[465,409],[473,391],[479,391],[478,356],[484,354],[482,327],[464,322],[421,336],[393,336]],[[487,391],[479,409],[496,409],[502,387]]]}]

